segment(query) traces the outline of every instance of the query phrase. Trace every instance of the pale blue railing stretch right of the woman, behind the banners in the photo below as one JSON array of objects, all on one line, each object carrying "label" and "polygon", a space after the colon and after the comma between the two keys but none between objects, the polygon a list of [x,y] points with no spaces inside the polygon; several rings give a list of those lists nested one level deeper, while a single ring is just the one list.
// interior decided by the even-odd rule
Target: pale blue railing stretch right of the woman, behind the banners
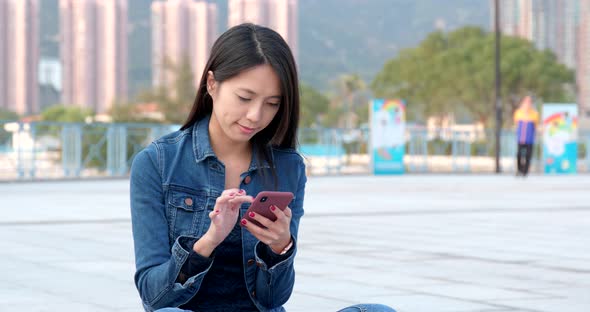
[{"label": "pale blue railing stretch right of the woman, behind the banners", "polygon": [[[368,128],[303,129],[299,140],[313,174],[369,173]],[[542,172],[542,142],[537,139],[532,172]],[[408,173],[493,173],[495,172],[493,130],[457,131],[408,128],[404,164]],[[579,173],[590,172],[590,131],[578,133]],[[516,171],[516,133],[500,136],[500,165],[503,172]]]}]

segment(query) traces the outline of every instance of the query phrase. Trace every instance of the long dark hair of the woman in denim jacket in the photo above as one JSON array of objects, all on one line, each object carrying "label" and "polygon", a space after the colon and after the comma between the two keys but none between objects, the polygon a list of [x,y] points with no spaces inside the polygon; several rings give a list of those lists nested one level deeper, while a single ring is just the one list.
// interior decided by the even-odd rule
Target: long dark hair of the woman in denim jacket
[{"label": "long dark hair of the woman in denim jacket", "polygon": [[195,102],[181,130],[191,127],[213,111],[213,101],[207,94],[209,71],[213,72],[217,82],[223,82],[247,69],[263,64],[270,65],[280,79],[281,104],[271,123],[251,139],[258,150],[258,156],[262,157],[256,161],[261,164],[261,161],[265,160],[272,167],[272,159],[268,153],[270,146],[296,148],[299,124],[299,80],[295,59],[281,35],[270,28],[250,23],[230,28],[213,44],[211,56],[201,76]]}]

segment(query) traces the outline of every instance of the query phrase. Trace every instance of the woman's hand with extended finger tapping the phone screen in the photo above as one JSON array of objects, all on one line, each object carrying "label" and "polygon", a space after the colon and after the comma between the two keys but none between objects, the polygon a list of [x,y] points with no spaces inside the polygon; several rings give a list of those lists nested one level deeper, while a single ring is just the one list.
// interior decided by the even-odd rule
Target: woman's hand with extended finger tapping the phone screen
[{"label": "woman's hand with extended finger tapping the phone screen", "polygon": [[228,189],[223,191],[217,198],[213,211],[209,213],[211,225],[207,233],[193,245],[193,250],[204,257],[209,257],[236,225],[240,215],[240,206],[252,201],[254,201],[252,196],[246,195],[244,190]]}]

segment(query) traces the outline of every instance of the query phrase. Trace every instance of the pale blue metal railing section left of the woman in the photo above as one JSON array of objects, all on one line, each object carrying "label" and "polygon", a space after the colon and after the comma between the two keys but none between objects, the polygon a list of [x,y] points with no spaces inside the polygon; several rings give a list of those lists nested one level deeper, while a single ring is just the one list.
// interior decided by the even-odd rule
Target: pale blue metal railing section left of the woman
[{"label": "pale blue metal railing section left of the woman", "polygon": [[178,126],[0,122],[0,180],[117,177]]}]

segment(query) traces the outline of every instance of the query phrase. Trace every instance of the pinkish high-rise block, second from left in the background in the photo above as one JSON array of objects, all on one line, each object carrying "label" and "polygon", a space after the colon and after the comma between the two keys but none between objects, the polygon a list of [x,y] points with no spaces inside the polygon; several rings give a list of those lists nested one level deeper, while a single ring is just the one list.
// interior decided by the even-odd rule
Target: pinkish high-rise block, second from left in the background
[{"label": "pinkish high-rise block, second from left in the background", "polygon": [[65,105],[108,112],[127,98],[127,0],[60,0]]}]

